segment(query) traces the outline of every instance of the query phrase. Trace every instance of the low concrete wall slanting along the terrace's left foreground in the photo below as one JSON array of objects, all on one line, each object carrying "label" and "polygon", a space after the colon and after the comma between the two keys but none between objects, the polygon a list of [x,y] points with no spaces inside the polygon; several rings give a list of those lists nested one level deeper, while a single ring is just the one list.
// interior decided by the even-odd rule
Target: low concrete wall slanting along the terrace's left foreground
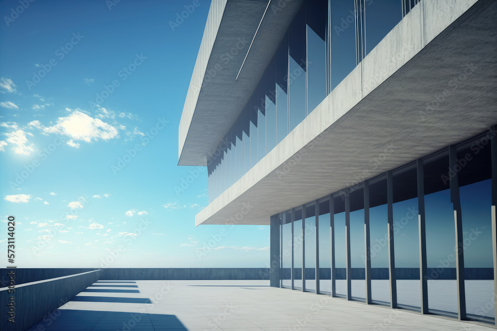
[{"label": "low concrete wall slanting along the terrace's left foreground", "polygon": [[[17,270],[15,272],[17,275]],[[44,318],[47,321],[55,319],[58,315],[53,311],[98,280],[100,274],[100,270],[94,270],[15,285],[14,293],[8,293],[8,287],[0,288],[0,330],[26,330]],[[10,316],[7,305],[12,302],[11,297],[14,304],[15,323],[8,322]]]}]

